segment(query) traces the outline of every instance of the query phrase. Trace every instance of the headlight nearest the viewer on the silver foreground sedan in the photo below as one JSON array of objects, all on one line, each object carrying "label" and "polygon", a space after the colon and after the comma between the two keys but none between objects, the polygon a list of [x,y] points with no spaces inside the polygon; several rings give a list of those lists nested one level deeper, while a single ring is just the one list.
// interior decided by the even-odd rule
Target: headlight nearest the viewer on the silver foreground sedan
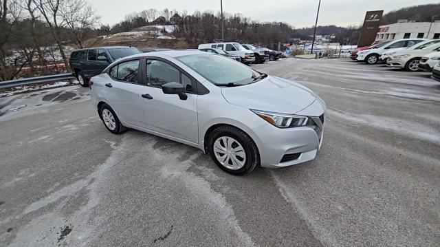
[{"label": "headlight nearest the viewer on the silver foreground sedan", "polygon": [[307,123],[307,120],[309,120],[309,118],[305,116],[276,114],[273,112],[258,111],[258,110],[251,110],[251,111],[278,128],[292,128],[292,127],[304,126]]}]

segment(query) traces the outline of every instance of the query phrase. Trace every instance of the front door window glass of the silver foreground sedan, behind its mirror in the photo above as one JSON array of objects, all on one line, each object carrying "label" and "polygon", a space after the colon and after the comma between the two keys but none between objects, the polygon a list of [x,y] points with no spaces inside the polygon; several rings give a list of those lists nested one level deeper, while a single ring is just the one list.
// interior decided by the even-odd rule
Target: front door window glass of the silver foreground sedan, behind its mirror
[{"label": "front door window glass of the silver foreground sedan, behind its mirror", "polygon": [[146,85],[162,87],[166,83],[173,82],[184,85],[186,92],[193,92],[191,79],[173,65],[159,60],[148,59],[146,61]]}]

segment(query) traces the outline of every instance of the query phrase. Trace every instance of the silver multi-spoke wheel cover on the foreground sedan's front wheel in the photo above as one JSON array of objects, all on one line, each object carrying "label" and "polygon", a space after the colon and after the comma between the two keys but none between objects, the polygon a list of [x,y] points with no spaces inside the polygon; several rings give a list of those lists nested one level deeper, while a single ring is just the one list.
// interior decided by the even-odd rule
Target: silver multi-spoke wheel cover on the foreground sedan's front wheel
[{"label": "silver multi-spoke wheel cover on the foreground sedan's front wheel", "polygon": [[214,155],[223,167],[231,170],[241,169],[246,162],[243,146],[230,136],[222,136],[215,140]]}]

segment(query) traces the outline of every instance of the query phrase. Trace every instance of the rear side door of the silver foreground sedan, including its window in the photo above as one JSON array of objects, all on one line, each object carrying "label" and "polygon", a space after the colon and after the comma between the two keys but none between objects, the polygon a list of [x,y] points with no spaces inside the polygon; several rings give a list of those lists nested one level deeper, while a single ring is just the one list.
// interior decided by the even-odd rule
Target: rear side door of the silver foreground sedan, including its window
[{"label": "rear side door of the silver foreground sedan, including its window", "polygon": [[125,123],[146,129],[144,121],[144,104],[142,98],[145,90],[142,59],[122,61],[109,69],[109,78],[104,84],[104,95],[107,102]]}]

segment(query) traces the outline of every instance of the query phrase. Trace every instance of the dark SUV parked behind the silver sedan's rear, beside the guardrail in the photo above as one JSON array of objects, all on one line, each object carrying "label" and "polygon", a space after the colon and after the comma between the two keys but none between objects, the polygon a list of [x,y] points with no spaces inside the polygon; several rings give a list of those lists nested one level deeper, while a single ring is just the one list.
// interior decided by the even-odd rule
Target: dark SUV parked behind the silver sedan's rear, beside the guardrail
[{"label": "dark SUV parked behind the silver sedan's rear, beside the guardrail", "polygon": [[89,85],[92,76],[100,74],[110,63],[124,56],[141,53],[135,47],[109,46],[74,50],[69,58],[69,65],[78,82],[83,87]]}]

